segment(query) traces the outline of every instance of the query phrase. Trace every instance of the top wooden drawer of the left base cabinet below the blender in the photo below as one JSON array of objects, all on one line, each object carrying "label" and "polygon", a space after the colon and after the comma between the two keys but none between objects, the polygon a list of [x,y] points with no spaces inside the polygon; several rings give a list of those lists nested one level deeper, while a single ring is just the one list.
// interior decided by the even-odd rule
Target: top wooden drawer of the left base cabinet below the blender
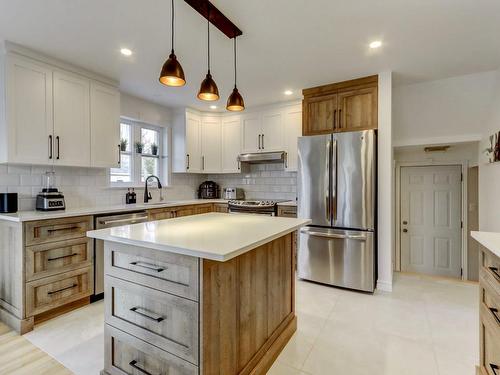
[{"label": "top wooden drawer of the left base cabinet below the blender", "polygon": [[26,246],[85,237],[91,229],[91,216],[27,222]]}]

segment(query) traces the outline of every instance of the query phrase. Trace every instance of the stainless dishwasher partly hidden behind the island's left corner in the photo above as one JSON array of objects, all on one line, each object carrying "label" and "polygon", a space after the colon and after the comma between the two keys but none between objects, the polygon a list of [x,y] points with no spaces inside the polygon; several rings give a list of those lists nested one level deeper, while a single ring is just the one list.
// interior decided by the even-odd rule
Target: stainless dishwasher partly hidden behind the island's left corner
[{"label": "stainless dishwasher partly hidden behind the island's left corner", "polygon": [[[104,229],[119,227],[148,221],[146,211],[128,212],[113,216],[95,216],[94,228]],[[95,240],[94,243],[94,295],[91,301],[97,301],[104,297],[104,241]]]}]

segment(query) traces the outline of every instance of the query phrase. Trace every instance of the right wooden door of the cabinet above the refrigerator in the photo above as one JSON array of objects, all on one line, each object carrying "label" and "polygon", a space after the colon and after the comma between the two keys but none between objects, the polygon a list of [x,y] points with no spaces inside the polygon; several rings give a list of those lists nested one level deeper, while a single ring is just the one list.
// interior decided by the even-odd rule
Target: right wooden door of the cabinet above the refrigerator
[{"label": "right wooden door of the cabinet above the refrigerator", "polygon": [[339,92],[337,131],[377,128],[377,87]]}]

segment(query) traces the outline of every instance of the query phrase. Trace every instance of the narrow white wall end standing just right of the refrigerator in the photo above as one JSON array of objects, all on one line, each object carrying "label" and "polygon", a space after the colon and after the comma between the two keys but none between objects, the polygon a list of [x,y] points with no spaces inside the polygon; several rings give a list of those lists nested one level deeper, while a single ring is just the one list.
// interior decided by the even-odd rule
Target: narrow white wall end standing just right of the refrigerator
[{"label": "narrow white wall end standing just right of the refrigerator", "polygon": [[394,168],[392,148],[392,72],[379,74],[378,89],[378,281],[392,291],[394,248]]}]

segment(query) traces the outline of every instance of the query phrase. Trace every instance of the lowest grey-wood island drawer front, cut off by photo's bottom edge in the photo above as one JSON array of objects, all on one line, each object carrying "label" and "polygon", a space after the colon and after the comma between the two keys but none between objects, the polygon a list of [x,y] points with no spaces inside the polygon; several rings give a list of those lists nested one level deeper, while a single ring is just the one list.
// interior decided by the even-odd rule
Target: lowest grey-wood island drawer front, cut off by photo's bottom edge
[{"label": "lowest grey-wood island drawer front, cut off by photo's bottom edge", "polygon": [[104,370],[111,375],[198,375],[198,367],[129,335],[104,327]]}]

